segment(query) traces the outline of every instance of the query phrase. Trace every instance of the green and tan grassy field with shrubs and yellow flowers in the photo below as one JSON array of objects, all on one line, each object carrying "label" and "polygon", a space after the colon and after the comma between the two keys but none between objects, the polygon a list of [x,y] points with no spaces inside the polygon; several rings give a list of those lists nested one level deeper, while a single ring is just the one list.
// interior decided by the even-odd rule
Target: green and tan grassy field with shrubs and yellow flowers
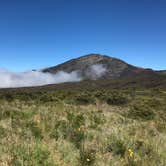
[{"label": "green and tan grassy field with shrubs and yellow flowers", "polygon": [[0,92],[1,166],[165,166],[166,90]]}]

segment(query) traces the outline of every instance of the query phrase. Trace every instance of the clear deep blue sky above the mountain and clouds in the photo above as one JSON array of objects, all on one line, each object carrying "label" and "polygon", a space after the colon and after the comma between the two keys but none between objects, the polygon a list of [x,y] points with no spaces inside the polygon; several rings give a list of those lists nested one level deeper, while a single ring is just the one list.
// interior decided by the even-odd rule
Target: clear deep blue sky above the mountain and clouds
[{"label": "clear deep blue sky above the mountain and clouds", "polygon": [[89,53],[166,69],[166,1],[0,0],[0,68],[38,69]]}]

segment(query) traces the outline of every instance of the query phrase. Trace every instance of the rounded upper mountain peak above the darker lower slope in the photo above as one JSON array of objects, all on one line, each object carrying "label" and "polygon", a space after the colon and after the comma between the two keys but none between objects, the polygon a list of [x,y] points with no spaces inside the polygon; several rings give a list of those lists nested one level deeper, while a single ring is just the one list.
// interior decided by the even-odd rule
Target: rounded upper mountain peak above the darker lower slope
[{"label": "rounded upper mountain peak above the darker lower slope", "polygon": [[43,70],[43,72],[52,74],[58,71],[67,73],[77,71],[79,76],[84,80],[111,79],[139,74],[156,74],[156,72],[151,69],[138,68],[120,59],[100,54],[85,55]]}]

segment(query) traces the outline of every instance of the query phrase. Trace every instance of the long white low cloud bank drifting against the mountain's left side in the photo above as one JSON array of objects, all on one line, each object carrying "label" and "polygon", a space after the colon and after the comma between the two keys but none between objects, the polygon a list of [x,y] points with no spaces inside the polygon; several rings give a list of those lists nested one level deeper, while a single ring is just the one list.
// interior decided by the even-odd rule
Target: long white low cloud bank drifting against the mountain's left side
[{"label": "long white low cloud bank drifting against the mountain's left side", "polygon": [[81,81],[76,71],[71,73],[59,71],[56,74],[50,74],[40,71],[15,73],[0,69],[0,88],[30,87],[76,81]]}]

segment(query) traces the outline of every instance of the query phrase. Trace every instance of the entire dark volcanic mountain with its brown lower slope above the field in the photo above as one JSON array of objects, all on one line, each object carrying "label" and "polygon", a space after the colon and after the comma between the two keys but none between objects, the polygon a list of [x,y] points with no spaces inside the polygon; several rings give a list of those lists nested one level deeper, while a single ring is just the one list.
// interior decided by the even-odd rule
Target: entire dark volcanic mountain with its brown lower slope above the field
[{"label": "entire dark volcanic mountain with its brown lower slope above the field", "polygon": [[[166,88],[166,70],[155,71],[136,67],[123,60],[100,54],[88,54],[40,71],[51,73],[46,76],[53,80],[62,77],[62,82],[57,83],[55,79],[55,83],[21,88],[19,91]],[[43,74],[40,71],[37,75]],[[63,81],[66,76],[69,81]],[[71,81],[72,77],[77,81]],[[17,91],[17,88],[14,90]]]}]

